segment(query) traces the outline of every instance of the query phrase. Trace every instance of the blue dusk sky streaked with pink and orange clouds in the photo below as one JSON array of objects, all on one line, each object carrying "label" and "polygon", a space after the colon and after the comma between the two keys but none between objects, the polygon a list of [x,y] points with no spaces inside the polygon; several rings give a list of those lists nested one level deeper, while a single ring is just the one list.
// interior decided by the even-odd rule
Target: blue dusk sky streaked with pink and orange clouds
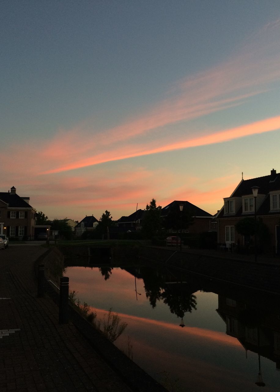
[{"label": "blue dusk sky streaked with pink and orange clouds", "polygon": [[279,0],[2,0],[1,192],[48,218],[280,172]]}]

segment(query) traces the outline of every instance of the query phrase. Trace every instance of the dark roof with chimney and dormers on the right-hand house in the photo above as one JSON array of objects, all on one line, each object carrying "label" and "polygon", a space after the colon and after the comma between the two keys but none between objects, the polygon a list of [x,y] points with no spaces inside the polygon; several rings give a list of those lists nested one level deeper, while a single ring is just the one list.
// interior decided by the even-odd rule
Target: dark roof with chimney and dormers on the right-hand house
[{"label": "dark roof with chimney and dormers on the right-hand house", "polygon": [[[258,194],[265,195],[264,200],[257,209],[257,215],[275,214],[277,212],[270,212],[270,197],[269,192],[280,191],[280,173],[276,173],[276,170],[271,170],[271,174],[268,176],[262,176],[257,178],[250,178],[249,180],[242,180],[235,191],[232,193],[230,198],[242,197],[246,195],[252,195],[252,187],[259,187]],[[244,216],[242,215],[242,205],[239,207],[238,211],[231,216]],[[228,218],[228,215],[224,215],[224,207],[217,214],[218,218]]]}]

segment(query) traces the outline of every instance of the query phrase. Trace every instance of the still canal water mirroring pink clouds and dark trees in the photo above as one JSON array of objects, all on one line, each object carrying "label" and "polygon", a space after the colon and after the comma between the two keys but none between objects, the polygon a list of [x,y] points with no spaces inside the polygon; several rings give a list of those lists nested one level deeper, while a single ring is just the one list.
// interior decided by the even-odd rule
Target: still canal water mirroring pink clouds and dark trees
[{"label": "still canal water mirroring pink clouds and dark trees", "polygon": [[133,361],[165,387],[280,391],[278,298],[144,264],[71,265],[70,290],[99,319],[119,314],[127,328],[115,344],[132,346]]}]

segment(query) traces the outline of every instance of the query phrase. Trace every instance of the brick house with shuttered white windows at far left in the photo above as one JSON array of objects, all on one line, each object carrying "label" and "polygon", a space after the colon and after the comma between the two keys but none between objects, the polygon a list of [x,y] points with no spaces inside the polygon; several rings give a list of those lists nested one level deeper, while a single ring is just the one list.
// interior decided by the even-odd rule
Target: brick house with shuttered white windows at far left
[{"label": "brick house with shuttered white windows at far left", "polygon": [[8,237],[31,239],[36,210],[29,205],[29,197],[20,197],[16,188],[0,192],[0,233]]}]

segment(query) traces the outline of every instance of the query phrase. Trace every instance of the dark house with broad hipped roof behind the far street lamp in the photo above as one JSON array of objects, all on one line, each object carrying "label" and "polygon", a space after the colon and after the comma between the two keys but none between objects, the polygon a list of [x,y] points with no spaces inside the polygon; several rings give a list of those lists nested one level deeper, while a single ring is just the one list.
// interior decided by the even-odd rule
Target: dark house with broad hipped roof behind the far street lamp
[{"label": "dark house with broad hipped roof behind the far street lamp", "polygon": [[[168,214],[175,214],[179,218],[179,211],[180,207],[179,205],[183,205],[183,212],[184,214],[187,212],[187,214],[192,218],[192,223],[187,227],[182,227],[183,233],[186,232],[191,232],[194,234],[199,234],[202,232],[207,232],[207,231],[216,231],[217,230],[217,223],[214,219],[214,216],[209,214],[209,212],[206,212],[202,210],[201,208],[197,207],[196,205],[189,203],[188,201],[179,201],[179,200],[174,200],[172,203],[167,204],[165,207],[162,208],[162,218],[165,218]],[[179,222],[177,227],[179,227]],[[169,232],[180,232],[181,230],[176,230],[176,228],[169,229]]]}]

